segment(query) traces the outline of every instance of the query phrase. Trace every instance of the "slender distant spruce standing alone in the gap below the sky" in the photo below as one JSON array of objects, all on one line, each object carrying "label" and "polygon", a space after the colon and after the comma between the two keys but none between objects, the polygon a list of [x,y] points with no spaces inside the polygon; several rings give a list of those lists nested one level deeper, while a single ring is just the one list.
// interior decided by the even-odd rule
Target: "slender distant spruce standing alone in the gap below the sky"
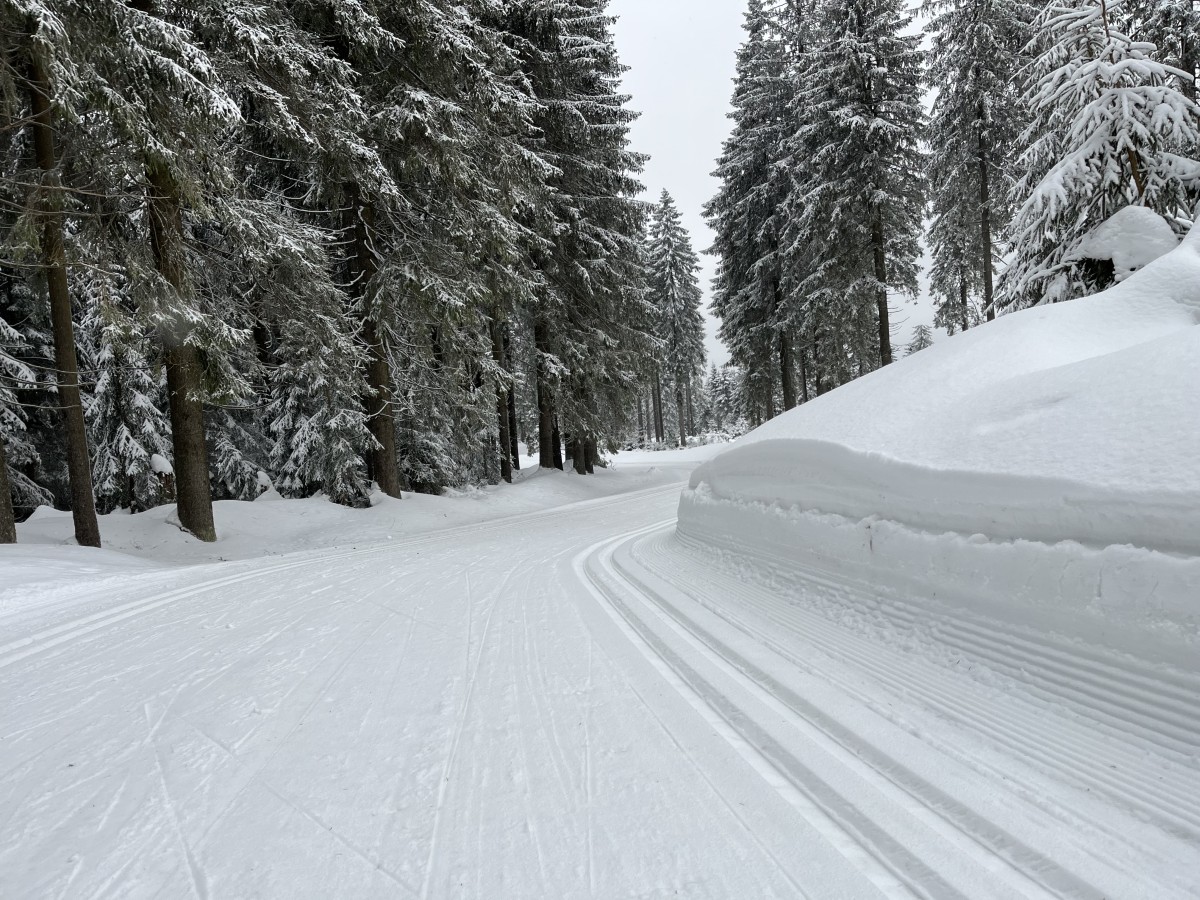
[{"label": "slender distant spruce standing alone in the gap below the sky", "polygon": [[686,446],[686,392],[691,379],[704,368],[704,319],[700,312],[700,260],[667,191],[662,192],[650,220],[649,289],[658,312],[662,342],[662,370],[674,388],[678,440]]}]

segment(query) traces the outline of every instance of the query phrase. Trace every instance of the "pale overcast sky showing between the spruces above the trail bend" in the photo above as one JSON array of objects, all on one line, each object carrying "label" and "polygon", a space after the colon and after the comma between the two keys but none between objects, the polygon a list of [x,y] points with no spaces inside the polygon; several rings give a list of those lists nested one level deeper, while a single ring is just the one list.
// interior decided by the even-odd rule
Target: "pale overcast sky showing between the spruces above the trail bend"
[{"label": "pale overcast sky showing between the spruces above the trail bend", "polygon": [[[733,72],[745,0],[611,0],[618,17],[614,30],[620,60],[629,66],[624,89],[638,110],[631,130],[634,149],[650,155],[642,174],[647,199],[666,188],[679,204],[692,244],[701,253],[706,311],[714,260],[703,253],[713,241],[701,209],[716,193],[712,176],[721,144],[730,133],[726,118],[733,96]],[[894,301],[895,302],[895,301]],[[932,323],[926,302],[913,307],[896,302],[898,349],[908,342],[912,326]],[[716,323],[708,318],[709,362],[728,361],[716,340]]]}]

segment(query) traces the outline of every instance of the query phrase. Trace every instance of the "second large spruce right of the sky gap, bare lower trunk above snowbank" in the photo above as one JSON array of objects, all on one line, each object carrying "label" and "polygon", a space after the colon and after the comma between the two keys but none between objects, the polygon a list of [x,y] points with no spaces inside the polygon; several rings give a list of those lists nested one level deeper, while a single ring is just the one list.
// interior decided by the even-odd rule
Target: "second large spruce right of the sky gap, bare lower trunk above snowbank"
[{"label": "second large spruce right of the sky gap, bare lower trunk above snowbank", "polygon": [[888,290],[917,289],[925,114],[911,20],[900,0],[830,0],[798,76],[788,244],[814,263],[796,290],[854,374],[892,361]]}]

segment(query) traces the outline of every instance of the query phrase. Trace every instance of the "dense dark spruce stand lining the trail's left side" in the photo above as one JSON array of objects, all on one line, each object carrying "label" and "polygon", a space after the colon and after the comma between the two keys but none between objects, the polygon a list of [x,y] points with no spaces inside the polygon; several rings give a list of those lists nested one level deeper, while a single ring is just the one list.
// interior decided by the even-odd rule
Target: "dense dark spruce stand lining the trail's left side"
[{"label": "dense dark spruce stand lining the trail's left side", "polygon": [[0,540],[589,470],[683,371],[606,2],[2,0]]}]

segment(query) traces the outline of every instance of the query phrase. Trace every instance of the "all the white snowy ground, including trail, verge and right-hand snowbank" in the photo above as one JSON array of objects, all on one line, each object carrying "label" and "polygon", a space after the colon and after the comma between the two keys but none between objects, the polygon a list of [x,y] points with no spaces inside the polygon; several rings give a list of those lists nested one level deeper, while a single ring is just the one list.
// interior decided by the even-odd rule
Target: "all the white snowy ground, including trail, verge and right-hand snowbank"
[{"label": "all the white snowy ground, including trail, verge and right-hand snowbank", "polygon": [[1198,301],[1192,244],[594,478],[43,512],[0,896],[1198,896]]}]

